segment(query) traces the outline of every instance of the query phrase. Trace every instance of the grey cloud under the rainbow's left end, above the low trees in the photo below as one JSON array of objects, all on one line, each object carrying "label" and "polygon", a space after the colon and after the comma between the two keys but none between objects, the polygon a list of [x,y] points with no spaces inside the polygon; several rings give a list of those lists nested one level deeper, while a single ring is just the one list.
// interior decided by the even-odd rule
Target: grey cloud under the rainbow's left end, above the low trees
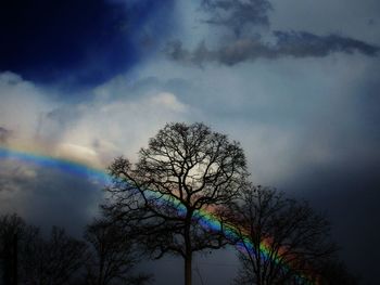
[{"label": "grey cloud under the rainbow's left end, above the low trees", "polygon": [[102,184],[53,168],[0,161],[0,215],[17,212],[47,230],[64,226],[81,236],[83,226],[98,213]]}]

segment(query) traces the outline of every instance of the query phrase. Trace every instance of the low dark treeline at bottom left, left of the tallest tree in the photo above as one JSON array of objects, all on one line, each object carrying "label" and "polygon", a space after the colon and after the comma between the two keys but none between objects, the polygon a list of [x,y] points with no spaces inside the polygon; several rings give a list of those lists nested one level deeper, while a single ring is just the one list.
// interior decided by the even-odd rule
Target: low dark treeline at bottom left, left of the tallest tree
[{"label": "low dark treeline at bottom left, left of the tallest tree", "polygon": [[123,230],[94,221],[84,239],[53,226],[48,237],[16,215],[0,218],[0,272],[4,285],[147,284],[134,272],[138,250]]}]

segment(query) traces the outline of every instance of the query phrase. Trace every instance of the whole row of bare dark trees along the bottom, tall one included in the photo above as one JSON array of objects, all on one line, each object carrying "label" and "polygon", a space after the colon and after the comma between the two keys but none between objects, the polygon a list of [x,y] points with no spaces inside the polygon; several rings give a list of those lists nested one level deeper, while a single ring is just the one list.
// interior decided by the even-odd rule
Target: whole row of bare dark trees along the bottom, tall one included
[{"label": "whole row of bare dark trees along the bottom, tall one included", "polygon": [[[240,144],[203,124],[166,125],[136,164],[118,157],[109,173],[101,218],[81,239],[55,226],[45,237],[16,215],[0,218],[2,284],[150,284],[139,261],[172,255],[183,259],[191,285],[194,254],[225,247],[239,249],[235,284],[358,284],[337,257],[326,218],[254,186]],[[217,226],[207,225],[210,215]]]}]

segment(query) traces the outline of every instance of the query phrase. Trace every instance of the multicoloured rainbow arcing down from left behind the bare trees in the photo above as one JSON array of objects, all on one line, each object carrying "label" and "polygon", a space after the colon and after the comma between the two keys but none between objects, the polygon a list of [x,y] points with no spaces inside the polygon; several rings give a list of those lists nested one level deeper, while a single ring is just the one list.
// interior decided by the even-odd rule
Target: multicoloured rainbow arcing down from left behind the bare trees
[{"label": "multicoloured rainbow arcing down from left behind the bare trees", "polygon": [[[89,180],[96,180],[98,183],[102,183],[103,185],[106,185],[112,182],[112,178],[106,173],[104,169],[101,168],[94,168],[90,165],[79,163],[72,159],[65,159],[65,158],[59,158],[51,155],[45,155],[41,153],[33,153],[33,152],[26,152],[22,150],[11,148],[11,147],[4,147],[0,146],[0,159],[7,159],[7,160],[14,160],[14,161],[21,161],[21,163],[27,163],[37,165],[40,167],[46,168],[53,168],[58,169],[59,171],[63,171],[65,173],[69,173],[73,176],[78,176],[85,179]],[[162,194],[159,194],[154,191],[151,191],[151,196],[154,198],[162,199],[163,203],[170,203],[175,205],[178,209],[178,213],[183,213],[185,209],[183,206],[180,203],[175,203],[173,200],[173,197],[168,197]],[[211,231],[219,231],[221,229],[221,222],[218,220],[218,218],[211,211],[201,209],[198,210],[195,213],[197,220],[199,220],[200,224],[207,230]],[[227,233],[227,236],[230,236],[231,238],[237,237],[237,232],[239,231],[238,225],[233,224],[224,224],[224,230]],[[254,245],[250,241],[249,236],[245,235],[243,239],[237,244],[237,248],[239,250],[253,250]],[[263,258],[269,258],[270,255],[270,244],[266,241],[262,242],[259,245],[259,252],[262,254]],[[291,264],[283,263],[283,261],[280,261],[279,258],[275,258],[275,262],[281,263],[281,265],[284,267],[287,270],[291,270]],[[297,276],[300,284],[307,284],[313,285],[316,284],[312,276],[307,275],[299,275]]]}]

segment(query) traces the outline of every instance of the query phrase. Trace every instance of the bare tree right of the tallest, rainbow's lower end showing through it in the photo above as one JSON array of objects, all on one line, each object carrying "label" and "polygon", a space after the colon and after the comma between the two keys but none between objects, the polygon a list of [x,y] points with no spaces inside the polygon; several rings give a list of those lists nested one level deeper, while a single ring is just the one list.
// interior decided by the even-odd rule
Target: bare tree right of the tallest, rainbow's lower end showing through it
[{"label": "bare tree right of the tallest, rainbow's lower end showing through it", "polygon": [[237,284],[308,284],[335,246],[329,223],[306,203],[275,190],[245,189],[233,207],[241,269]]}]

